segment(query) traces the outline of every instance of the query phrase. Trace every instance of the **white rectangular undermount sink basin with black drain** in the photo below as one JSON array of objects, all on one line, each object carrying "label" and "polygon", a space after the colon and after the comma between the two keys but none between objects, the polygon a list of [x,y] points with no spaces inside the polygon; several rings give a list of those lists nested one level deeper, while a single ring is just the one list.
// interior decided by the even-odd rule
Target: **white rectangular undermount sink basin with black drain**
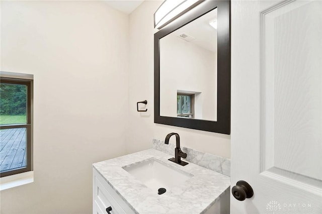
[{"label": "white rectangular undermount sink basin with black drain", "polygon": [[192,174],[155,158],[149,158],[122,168],[156,193],[159,188],[166,188],[168,191],[171,187],[180,185],[193,177]]}]

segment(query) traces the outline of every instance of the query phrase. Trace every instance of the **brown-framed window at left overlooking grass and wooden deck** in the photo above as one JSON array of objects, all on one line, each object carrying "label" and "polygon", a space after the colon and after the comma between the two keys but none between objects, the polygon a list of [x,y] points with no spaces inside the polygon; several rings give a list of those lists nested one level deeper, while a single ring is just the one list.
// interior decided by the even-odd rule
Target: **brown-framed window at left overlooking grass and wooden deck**
[{"label": "brown-framed window at left overlooking grass and wooden deck", "polygon": [[32,168],[33,79],[30,77],[33,75],[1,72],[1,177],[31,171]]}]

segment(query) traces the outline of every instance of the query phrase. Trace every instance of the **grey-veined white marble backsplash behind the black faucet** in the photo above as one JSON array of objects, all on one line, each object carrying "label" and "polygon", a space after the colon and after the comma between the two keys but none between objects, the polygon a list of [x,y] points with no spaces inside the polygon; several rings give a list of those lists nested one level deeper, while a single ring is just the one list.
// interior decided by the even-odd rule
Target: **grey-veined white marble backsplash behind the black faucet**
[{"label": "grey-veined white marble backsplash behind the black faucet", "polygon": [[[170,155],[175,154],[176,144],[170,142],[169,145],[165,144],[165,141],[153,139],[152,148],[165,152]],[[230,176],[230,159],[220,157],[217,155],[209,154],[206,152],[200,152],[198,150],[190,149],[187,147],[181,147],[181,150],[187,153],[187,158],[182,159],[199,166],[211,169],[215,172]]]}]

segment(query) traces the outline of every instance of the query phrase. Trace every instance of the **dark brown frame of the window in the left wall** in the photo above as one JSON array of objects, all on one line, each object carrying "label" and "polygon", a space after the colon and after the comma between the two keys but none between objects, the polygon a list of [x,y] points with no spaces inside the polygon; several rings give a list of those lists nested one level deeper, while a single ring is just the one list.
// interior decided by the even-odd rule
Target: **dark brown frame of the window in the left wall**
[{"label": "dark brown frame of the window in the left wall", "polygon": [[[8,72],[9,73],[9,72]],[[15,75],[14,73],[11,73]],[[25,74],[26,77],[29,74]],[[16,78],[16,77],[3,77],[0,75],[0,83],[7,84],[20,84],[27,86],[27,111],[26,111],[26,123],[25,124],[9,124],[9,125],[0,125],[0,130],[3,129],[18,129],[26,128],[26,166],[8,169],[3,172],[0,172],[0,177],[6,177],[10,175],[15,175],[23,172],[28,172],[32,170],[32,140],[33,140],[33,79],[31,78]]]}]

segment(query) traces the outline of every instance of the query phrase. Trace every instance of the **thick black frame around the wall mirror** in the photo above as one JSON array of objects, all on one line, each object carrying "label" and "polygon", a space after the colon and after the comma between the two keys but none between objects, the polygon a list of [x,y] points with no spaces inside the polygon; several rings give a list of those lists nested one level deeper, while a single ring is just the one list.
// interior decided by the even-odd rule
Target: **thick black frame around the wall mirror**
[{"label": "thick black frame around the wall mirror", "polygon": [[[160,116],[160,39],[215,8],[217,8],[217,121]],[[204,1],[154,34],[154,123],[230,134],[230,1]]]}]

